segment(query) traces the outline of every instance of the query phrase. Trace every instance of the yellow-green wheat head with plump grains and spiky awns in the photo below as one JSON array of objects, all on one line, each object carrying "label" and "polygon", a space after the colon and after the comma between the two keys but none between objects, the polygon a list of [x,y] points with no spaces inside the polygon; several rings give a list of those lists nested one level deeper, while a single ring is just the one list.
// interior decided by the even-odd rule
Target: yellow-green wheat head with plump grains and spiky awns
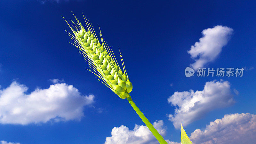
[{"label": "yellow-green wheat head with plump grains and spiky awns", "polygon": [[66,21],[74,33],[74,35],[68,33],[73,40],[73,44],[80,50],[80,53],[84,56],[84,59],[92,69],[88,70],[100,78],[98,80],[108,86],[108,88],[115,92],[120,98],[128,98],[128,93],[132,91],[132,83],[125,70],[124,60],[120,50],[119,53],[124,72],[118,65],[112,49],[105,43],[101,31],[100,44],[94,28],[87,19],[84,18],[84,20],[86,23],[85,28],[77,18],[76,23],[73,21],[68,23]]}]

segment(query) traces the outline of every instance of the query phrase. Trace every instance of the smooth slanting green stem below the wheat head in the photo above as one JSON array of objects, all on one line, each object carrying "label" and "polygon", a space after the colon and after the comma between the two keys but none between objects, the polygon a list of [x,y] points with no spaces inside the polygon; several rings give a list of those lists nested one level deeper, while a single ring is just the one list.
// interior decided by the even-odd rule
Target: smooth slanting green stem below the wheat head
[{"label": "smooth slanting green stem below the wheat head", "polygon": [[147,125],[148,129],[153,133],[153,135],[156,137],[158,142],[160,144],[167,144],[167,142],[164,140],[164,138],[156,131],[154,126],[148,121],[146,116],[143,115],[143,113],[140,111],[140,109],[135,105],[135,103],[132,101],[131,96],[127,98],[129,103],[131,104],[132,108],[136,111],[136,113],[140,116],[141,120]]}]

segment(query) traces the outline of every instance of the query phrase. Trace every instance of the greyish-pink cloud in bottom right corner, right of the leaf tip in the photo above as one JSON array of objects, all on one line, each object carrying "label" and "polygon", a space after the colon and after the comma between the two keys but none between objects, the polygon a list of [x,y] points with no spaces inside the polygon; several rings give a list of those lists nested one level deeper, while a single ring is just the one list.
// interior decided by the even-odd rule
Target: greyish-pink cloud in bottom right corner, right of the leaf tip
[{"label": "greyish-pink cloud in bottom right corner, right of the leaf tip", "polygon": [[204,130],[196,129],[190,140],[194,144],[241,144],[255,143],[256,116],[249,113],[225,115],[206,125]]}]

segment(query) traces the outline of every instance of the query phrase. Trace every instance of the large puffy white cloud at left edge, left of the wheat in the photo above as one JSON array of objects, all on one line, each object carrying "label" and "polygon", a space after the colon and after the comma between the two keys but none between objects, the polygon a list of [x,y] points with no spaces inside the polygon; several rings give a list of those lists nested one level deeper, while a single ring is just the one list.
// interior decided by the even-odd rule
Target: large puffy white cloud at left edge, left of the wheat
[{"label": "large puffy white cloud at left edge, left of the wheat", "polygon": [[36,89],[26,94],[28,87],[16,81],[6,89],[0,89],[0,123],[29,124],[51,120],[80,120],[83,107],[91,105],[94,96],[81,95],[73,85],[50,85],[48,89]]}]

